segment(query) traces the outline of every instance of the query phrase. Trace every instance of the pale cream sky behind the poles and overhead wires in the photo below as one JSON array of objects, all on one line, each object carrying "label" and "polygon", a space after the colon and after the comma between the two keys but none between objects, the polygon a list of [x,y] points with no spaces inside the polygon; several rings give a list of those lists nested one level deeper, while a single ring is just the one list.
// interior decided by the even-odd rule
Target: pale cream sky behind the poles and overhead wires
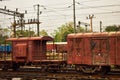
[{"label": "pale cream sky behind the poles and overhead wires", "polygon": [[[62,24],[73,21],[73,0],[6,0],[0,2],[0,8],[7,6],[7,9],[24,12],[25,20],[36,18],[37,10],[33,7],[36,4],[43,5],[40,7],[42,14],[40,15],[40,30],[45,29],[48,33],[53,32]],[[71,6],[68,8],[68,6]],[[99,23],[103,22],[103,26],[120,25],[120,0],[76,0],[76,23],[78,21],[89,23],[86,19],[88,15],[94,14],[93,31],[99,31]],[[0,25],[2,27],[10,26],[13,22],[12,16],[0,13]],[[35,29],[36,25],[27,25]],[[84,25],[83,25],[84,27]]]}]

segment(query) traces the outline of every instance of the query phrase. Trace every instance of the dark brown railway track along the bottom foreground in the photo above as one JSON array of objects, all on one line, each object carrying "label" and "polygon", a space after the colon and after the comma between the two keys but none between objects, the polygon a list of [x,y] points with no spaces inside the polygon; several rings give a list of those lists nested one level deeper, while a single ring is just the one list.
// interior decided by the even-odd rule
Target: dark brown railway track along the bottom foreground
[{"label": "dark brown railway track along the bottom foreground", "polygon": [[[13,78],[20,78],[20,80],[119,80],[120,73],[110,72],[107,75],[100,74],[82,74],[77,72],[40,72],[39,69],[29,69],[26,71],[2,71],[0,70],[0,80],[12,80]],[[17,79],[16,79],[17,80]]]}]

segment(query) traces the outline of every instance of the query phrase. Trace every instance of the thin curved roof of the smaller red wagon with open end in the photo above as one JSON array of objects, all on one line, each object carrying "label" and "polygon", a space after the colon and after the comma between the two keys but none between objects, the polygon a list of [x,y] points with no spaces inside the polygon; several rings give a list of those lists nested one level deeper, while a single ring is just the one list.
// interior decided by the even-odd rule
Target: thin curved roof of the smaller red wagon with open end
[{"label": "thin curved roof of the smaller red wagon with open end", "polygon": [[8,38],[7,41],[26,41],[26,40],[45,40],[53,41],[53,38],[50,36],[41,36],[41,37],[20,37],[20,38]]}]

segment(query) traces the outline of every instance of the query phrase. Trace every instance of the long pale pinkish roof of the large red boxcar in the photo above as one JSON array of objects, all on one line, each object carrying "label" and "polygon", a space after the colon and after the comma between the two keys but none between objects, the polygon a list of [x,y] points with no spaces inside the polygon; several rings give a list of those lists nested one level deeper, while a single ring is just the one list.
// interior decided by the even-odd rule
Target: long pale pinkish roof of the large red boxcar
[{"label": "long pale pinkish roof of the large red boxcar", "polygon": [[68,38],[77,38],[77,37],[108,37],[108,36],[120,36],[120,32],[101,32],[101,33],[76,33],[69,34]]}]

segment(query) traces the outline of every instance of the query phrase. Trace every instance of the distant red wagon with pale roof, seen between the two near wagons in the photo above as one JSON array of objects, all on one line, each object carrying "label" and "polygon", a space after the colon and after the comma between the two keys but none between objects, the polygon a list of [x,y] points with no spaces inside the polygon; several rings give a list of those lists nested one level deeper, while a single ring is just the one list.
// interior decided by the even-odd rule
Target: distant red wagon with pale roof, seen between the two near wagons
[{"label": "distant red wagon with pale roof, seen between the two near wagons", "polygon": [[47,43],[47,56],[52,59],[66,60],[67,42]]}]

